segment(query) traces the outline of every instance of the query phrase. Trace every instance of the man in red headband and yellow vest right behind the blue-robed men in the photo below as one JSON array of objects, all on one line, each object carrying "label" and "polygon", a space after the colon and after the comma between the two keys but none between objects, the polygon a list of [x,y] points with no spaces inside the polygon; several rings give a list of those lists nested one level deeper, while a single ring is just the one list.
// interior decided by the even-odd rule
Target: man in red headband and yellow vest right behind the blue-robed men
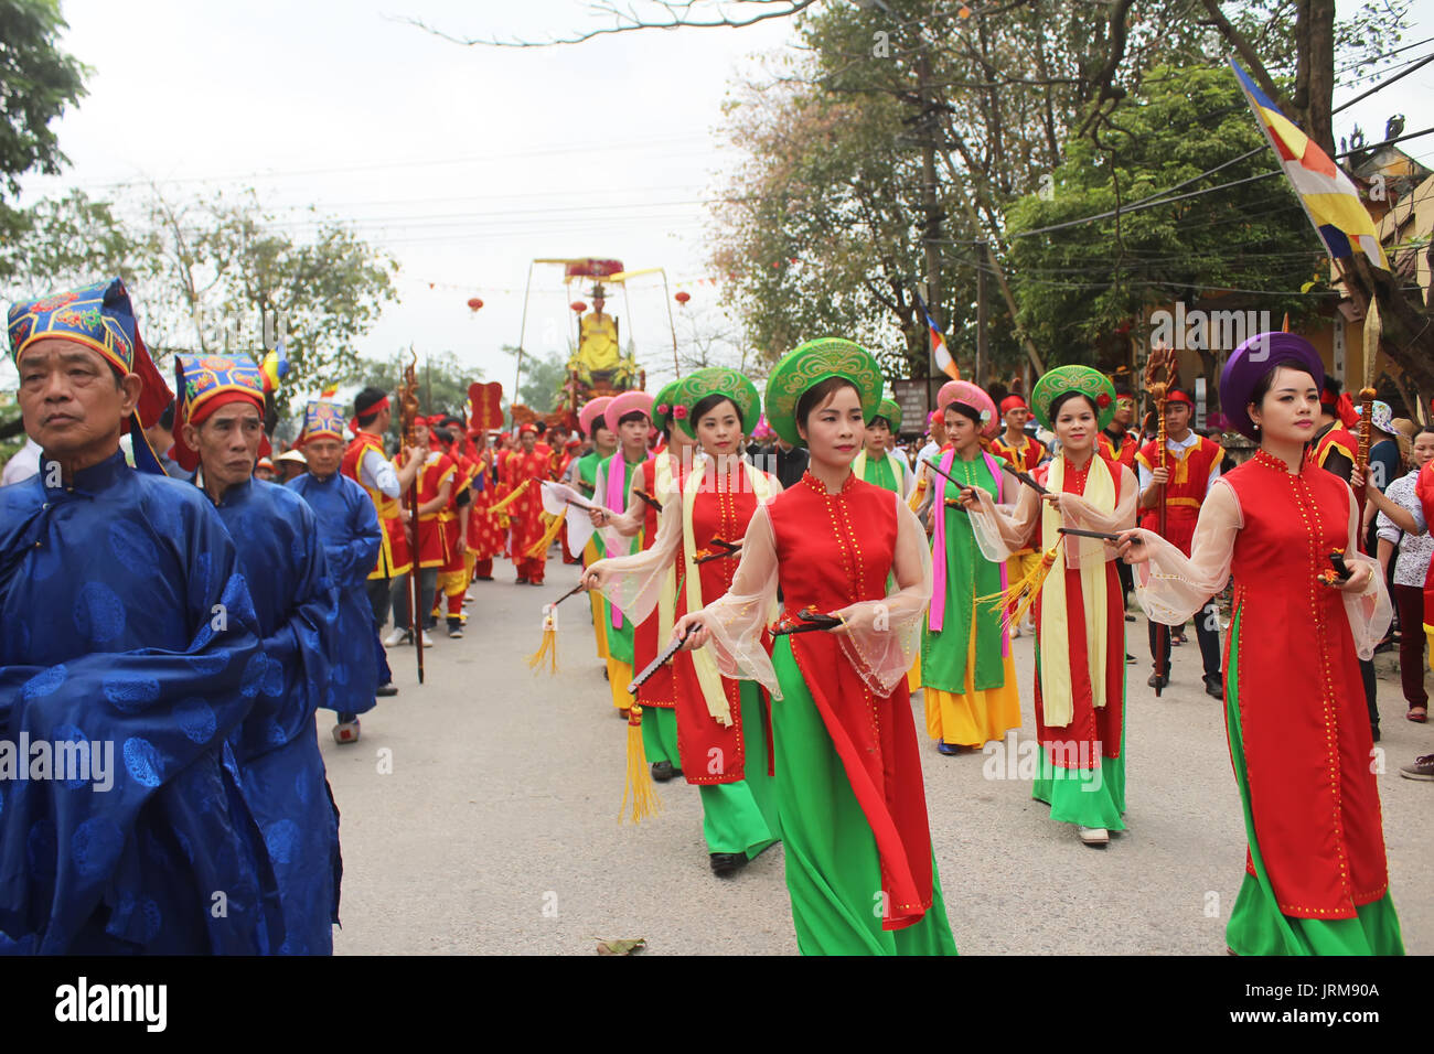
[{"label": "man in red headband and yellow vest right behind the blue-robed men", "polygon": [[[391,423],[393,409],[387,393],[381,389],[366,387],[354,396],[354,419],[350,422],[354,437],[344,450],[338,467],[373,499],[379,525],[383,528],[379,559],[369,572],[369,604],[373,607],[374,625],[380,630],[389,621],[389,607],[394,594],[400,588],[407,588],[406,575],[413,566],[409,536],[404,531],[407,511],[403,498],[419,472],[416,449],[404,450],[402,467],[396,467],[383,452],[383,435]],[[409,529],[412,531],[412,525]],[[394,630],[399,640],[403,634],[403,627]]]}]

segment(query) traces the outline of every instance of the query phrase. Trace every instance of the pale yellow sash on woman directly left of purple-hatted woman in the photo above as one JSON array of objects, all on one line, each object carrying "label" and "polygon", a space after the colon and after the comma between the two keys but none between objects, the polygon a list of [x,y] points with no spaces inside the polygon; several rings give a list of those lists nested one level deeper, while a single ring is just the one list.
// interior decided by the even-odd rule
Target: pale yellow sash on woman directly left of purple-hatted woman
[{"label": "pale yellow sash on woman directly left of purple-hatted woman", "polygon": [[[1065,479],[1065,457],[1051,462],[1045,486],[1061,493]],[[1116,511],[1116,480],[1106,462],[1091,456],[1086,478],[1084,499],[1101,512]],[[1106,546],[1098,538],[1060,535],[1061,515],[1050,505],[1041,513],[1041,539],[1053,545],[1064,538],[1061,548],[1080,545],[1080,591],[1086,615],[1086,665],[1090,668],[1090,691],[1097,707],[1106,706]],[[1117,644],[1116,647],[1120,647]],[[1047,727],[1070,724],[1074,717],[1071,698],[1070,634],[1065,625],[1065,554],[1058,566],[1045,576],[1041,597],[1041,704]]]}]

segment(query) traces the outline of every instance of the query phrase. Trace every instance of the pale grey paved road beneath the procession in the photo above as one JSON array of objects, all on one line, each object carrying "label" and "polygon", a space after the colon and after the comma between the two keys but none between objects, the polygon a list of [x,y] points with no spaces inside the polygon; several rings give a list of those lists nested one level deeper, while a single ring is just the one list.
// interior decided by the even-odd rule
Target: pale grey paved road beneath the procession
[{"label": "pale grey paved road beneath the procession", "polygon": [[[731,879],[707,866],[695,787],[660,787],[664,812],[618,823],[625,724],[607,694],[582,598],[562,605],[559,673],[533,675],[539,607],[576,582],[475,585],[467,635],[439,632],[417,685],[412,650],[390,652],[400,694],[337,746],[320,714],[343,813],[340,954],[592,954],[595,938],[647,938],[650,954],[794,954],[782,849]],[[1130,624],[1144,654],[1144,619]],[[1014,642],[1025,726],[1032,641]],[[1388,763],[1380,776],[1391,888],[1410,952],[1434,951],[1428,885],[1434,783],[1401,779],[1434,751],[1434,724],[1402,718],[1391,657],[1378,657]],[[1090,849],[1031,802],[1030,783],[987,779],[981,754],[922,761],[946,908],[962,954],[1225,952],[1245,832],[1220,704],[1203,694],[1199,651],[1174,650],[1156,700],[1131,665],[1129,833]],[[1139,674],[1136,673],[1139,670]],[[1421,863],[1423,862],[1423,863]]]}]

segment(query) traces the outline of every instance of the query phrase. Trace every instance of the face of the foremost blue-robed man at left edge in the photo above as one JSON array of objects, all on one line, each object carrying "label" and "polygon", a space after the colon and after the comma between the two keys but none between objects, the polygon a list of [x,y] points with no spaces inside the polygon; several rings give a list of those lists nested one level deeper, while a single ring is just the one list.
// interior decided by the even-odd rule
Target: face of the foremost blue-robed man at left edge
[{"label": "face of the foremost blue-robed man at left edge", "polygon": [[37,340],[20,359],[24,430],[62,462],[95,463],[118,450],[142,387],[133,373],[118,377],[99,351],[70,340]]}]

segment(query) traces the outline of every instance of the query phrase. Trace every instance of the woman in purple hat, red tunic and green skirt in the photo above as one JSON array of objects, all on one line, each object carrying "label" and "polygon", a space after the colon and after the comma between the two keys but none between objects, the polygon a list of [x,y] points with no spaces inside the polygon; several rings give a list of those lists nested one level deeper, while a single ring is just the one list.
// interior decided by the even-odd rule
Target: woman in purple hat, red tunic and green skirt
[{"label": "woman in purple hat, red tunic and green skirt", "polygon": [[1225,724],[1249,855],[1225,934],[1239,955],[1404,952],[1359,675],[1391,609],[1357,546],[1354,493],[1305,455],[1322,381],[1304,337],[1240,344],[1220,407],[1255,457],[1210,486],[1189,556],[1150,531],[1123,535],[1153,621],[1179,625],[1235,576]]}]

